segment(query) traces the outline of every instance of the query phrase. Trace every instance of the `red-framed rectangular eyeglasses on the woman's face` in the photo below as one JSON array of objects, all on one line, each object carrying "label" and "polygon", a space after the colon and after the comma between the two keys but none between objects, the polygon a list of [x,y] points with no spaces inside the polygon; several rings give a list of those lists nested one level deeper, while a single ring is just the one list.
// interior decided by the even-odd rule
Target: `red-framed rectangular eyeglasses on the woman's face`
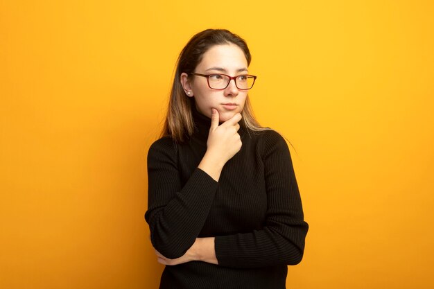
[{"label": "red-framed rectangular eyeglasses on the woman's face", "polygon": [[191,72],[193,76],[202,76],[207,78],[208,86],[211,89],[225,89],[229,86],[231,80],[235,81],[236,88],[240,90],[251,89],[254,85],[254,80],[257,79],[256,76],[251,76],[250,74],[243,74],[241,76],[227,76],[226,74],[201,74]]}]

